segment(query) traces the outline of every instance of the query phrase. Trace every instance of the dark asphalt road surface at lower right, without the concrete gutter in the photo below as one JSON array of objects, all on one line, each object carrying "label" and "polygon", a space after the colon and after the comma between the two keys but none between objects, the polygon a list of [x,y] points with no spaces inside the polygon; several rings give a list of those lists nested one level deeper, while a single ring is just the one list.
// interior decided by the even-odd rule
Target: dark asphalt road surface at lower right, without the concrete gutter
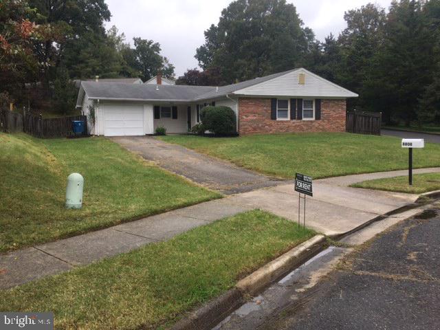
[{"label": "dark asphalt road surface at lower right, without the concrete gutter", "polygon": [[259,329],[440,329],[439,208],[349,256],[304,305],[292,302]]}]

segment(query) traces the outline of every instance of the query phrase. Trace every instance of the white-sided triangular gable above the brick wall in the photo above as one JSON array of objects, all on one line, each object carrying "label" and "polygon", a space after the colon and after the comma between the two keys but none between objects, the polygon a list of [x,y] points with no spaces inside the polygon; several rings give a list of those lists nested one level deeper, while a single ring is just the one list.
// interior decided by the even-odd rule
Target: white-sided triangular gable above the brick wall
[{"label": "white-sided triangular gable above the brick wall", "polygon": [[[298,83],[298,75],[305,74],[305,84]],[[343,87],[312,74],[306,69],[298,69],[284,76],[267,80],[264,83],[234,91],[244,96],[303,96],[322,98],[349,98],[355,94]]]}]

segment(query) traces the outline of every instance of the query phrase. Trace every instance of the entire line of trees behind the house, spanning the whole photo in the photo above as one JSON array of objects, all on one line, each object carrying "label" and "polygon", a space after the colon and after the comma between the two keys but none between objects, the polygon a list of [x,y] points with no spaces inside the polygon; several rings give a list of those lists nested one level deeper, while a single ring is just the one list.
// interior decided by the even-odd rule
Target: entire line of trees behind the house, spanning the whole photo
[{"label": "entire line of trees behind the house, spanning the whole photo", "polygon": [[[72,79],[140,77],[175,67],[160,44],[126,42],[104,0],[0,0],[0,102],[72,109]],[[440,123],[440,0],[372,3],[349,10],[338,36],[318,41],[285,0],[236,0],[204,32],[181,85],[221,86],[305,67],[355,91],[349,109],[386,123]]]}]

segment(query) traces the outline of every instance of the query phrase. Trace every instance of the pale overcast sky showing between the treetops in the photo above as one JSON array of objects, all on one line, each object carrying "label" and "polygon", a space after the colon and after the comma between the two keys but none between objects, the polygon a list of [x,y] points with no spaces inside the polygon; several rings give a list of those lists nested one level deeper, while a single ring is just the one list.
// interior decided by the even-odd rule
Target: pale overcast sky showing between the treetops
[{"label": "pale overcast sky showing between the treetops", "polygon": [[[111,21],[124,32],[126,41],[134,36],[153,39],[162,46],[162,55],[175,65],[176,75],[197,67],[195,50],[203,44],[203,31],[219,22],[221,10],[231,0],[107,0]],[[287,0],[294,3],[306,26],[323,40],[330,32],[345,28],[344,12],[369,2],[386,8],[391,0]],[[131,43],[133,44],[133,43]]]}]

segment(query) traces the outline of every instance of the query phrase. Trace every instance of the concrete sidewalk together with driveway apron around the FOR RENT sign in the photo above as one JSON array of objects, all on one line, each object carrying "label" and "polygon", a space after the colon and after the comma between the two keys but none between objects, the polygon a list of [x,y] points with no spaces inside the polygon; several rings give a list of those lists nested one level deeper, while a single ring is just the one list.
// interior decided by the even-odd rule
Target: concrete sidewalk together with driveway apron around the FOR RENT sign
[{"label": "concrete sidewalk together with driveway apron around the FOR RENT sign", "polygon": [[[440,172],[440,168],[415,170],[415,173],[426,172]],[[405,171],[394,171],[316,180],[314,197],[307,198],[306,225],[323,234],[342,234],[380,214],[413,203],[418,195],[347,187],[349,183],[363,181],[366,176],[377,179],[405,174]],[[255,208],[297,221],[298,194],[294,192],[292,183],[242,192],[70,239],[3,254],[0,255],[0,288],[20,285],[128,252],[148,243],[164,241],[199,225]]]}]

